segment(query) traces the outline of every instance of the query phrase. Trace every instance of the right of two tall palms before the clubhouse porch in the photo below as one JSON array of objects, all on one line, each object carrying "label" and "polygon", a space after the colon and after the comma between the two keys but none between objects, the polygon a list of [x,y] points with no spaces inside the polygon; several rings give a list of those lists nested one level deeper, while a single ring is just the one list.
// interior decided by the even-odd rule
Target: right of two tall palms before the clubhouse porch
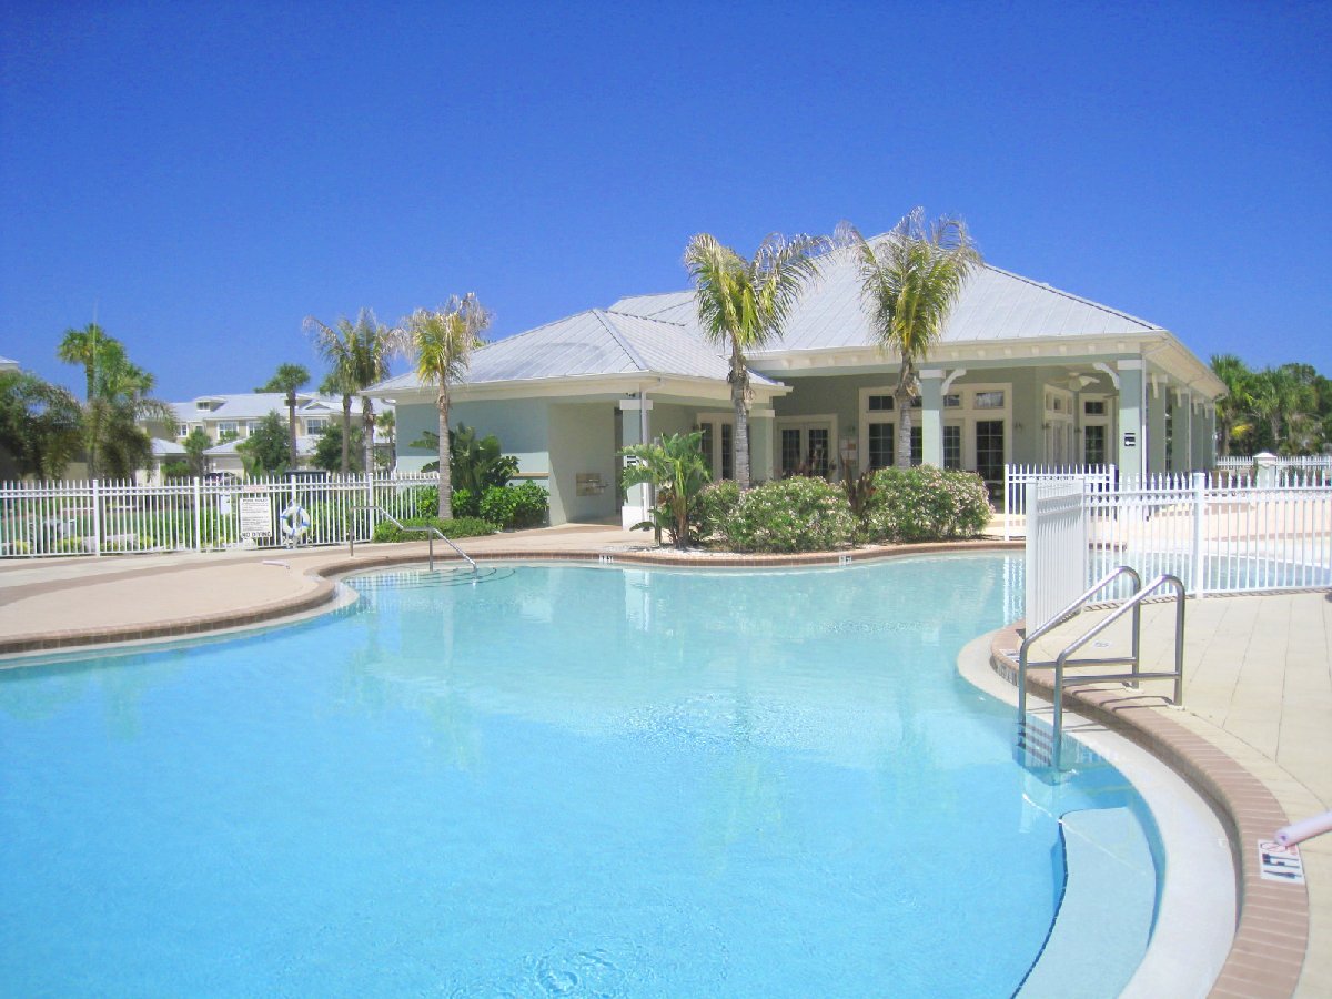
[{"label": "right of two tall palms before the clubhouse porch", "polygon": [[896,466],[910,468],[916,365],[939,342],[963,285],[984,261],[962,220],[943,217],[927,225],[923,208],[912,209],[876,242],[846,224],[839,226],[838,236],[859,257],[860,294],[870,308],[879,349],[902,357],[892,393],[898,414]]}]

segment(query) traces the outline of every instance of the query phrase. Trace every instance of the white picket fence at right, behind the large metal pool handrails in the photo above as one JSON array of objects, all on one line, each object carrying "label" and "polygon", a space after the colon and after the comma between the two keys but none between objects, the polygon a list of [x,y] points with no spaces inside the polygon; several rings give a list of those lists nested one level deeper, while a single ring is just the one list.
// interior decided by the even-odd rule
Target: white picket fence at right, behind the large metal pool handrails
[{"label": "white picket fence at right, behind the large metal pool handrails", "polygon": [[1052,547],[1086,566],[1082,589],[1116,565],[1132,566],[1144,582],[1177,575],[1195,595],[1332,586],[1327,476],[1288,473],[1268,486],[1247,476],[1197,472],[1080,489],[1084,541],[1068,533],[1063,506],[1047,510],[1042,502],[1027,518],[1027,571],[1038,575],[1027,579],[1028,623],[1047,605],[1078,595],[1067,594],[1067,581],[1050,567],[1059,563]]}]

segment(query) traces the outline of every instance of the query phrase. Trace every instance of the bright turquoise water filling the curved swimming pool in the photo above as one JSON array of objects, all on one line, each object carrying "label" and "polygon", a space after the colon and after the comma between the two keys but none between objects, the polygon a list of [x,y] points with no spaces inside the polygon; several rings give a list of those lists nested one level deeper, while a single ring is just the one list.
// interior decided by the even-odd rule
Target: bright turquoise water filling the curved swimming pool
[{"label": "bright turquoise water filling the curved swimming pool", "polygon": [[956,675],[1003,557],[488,571],[0,671],[0,988],[1010,995],[1131,797]]}]

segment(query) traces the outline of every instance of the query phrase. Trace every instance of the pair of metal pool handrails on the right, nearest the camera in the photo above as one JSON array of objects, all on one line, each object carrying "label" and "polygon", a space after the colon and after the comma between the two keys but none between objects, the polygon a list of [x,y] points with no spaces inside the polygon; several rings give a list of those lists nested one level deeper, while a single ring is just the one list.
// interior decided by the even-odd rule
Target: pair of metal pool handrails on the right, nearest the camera
[{"label": "pair of metal pool handrails on the right, nearest the camera", "polygon": [[[1112,613],[1107,614],[1104,618],[1092,625],[1087,631],[1075,638],[1068,646],[1064,647],[1062,653],[1054,659],[1043,662],[1031,662],[1030,653],[1032,645],[1056,626],[1064,623],[1066,621],[1075,617],[1082,611],[1094,597],[1103,593],[1110,587],[1112,582],[1120,577],[1128,577],[1134,582],[1134,594],[1120,603]],[[1175,669],[1169,671],[1152,671],[1143,673],[1142,670],[1142,643],[1143,643],[1143,602],[1148,599],[1152,594],[1163,589],[1171,589],[1173,591],[1175,599]],[[1108,657],[1108,658],[1092,658],[1092,659],[1076,659],[1074,662],[1068,661],[1068,657],[1082,649],[1087,642],[1099,635],[1112,623],[1119,621],[1126,614],[1132,614],[1132,649],[1127,657]],[[1173,679],[1175,681],[1175,705],[1179,706],[1184,703],[1184,583],[1176,575],[1169,575],[1163,573],[1155,579],[1143,586],[1143,579],[1135,569],[1127,565],[1118,566],[1102,577],[1090,590],[1087,590],[1082,597],[1075,599],[1062,611],[1055,614],[1050,621],[1047,621],[1040,627],[1030,631],[1022,642],[1022,650],[1018,653],[1018,745],[1019,747],[1030,747],[1030,739],[1027,734],[1027,670],[1036,669],[1055,669],[1055,689],[1054,689],[1054,735],[1051,737],[1051,765],[1055,770],[1062,770],[1062,753],[1063,749],[1063,723],[1064,723],[1064,686],[1067,683],[1106,683],[1111,681],[1123,681],[1131,687],[1136,687],[1138,682],[1142,679]],[[1130,673],[1075,673],[1072,677],[1066,675],[1068,666],[1083,667],[1083,666],[1132,666]]]}]

